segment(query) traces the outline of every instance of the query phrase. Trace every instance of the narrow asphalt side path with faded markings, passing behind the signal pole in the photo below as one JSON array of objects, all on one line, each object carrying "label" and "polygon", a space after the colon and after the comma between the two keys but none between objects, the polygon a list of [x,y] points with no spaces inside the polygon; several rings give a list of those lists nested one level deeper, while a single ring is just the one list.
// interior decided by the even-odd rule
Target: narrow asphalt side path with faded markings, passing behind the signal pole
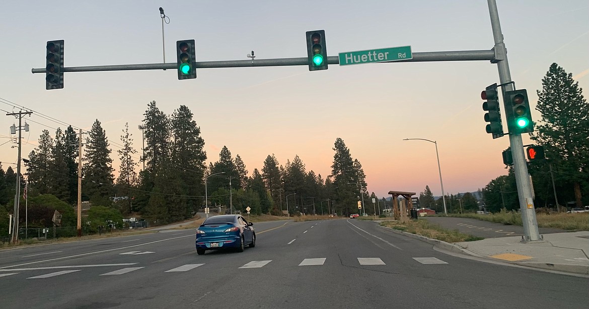
[{"label": "narrow asphalt side path with faded markings, passing behind the signal pole", "polygon": [[[471,234],[478,237],[496,238],[511,237],[524,235],[524,227],[519,225],[504,225],[501,223],[481,221],[471,218],[456,217],[420,217],[418,220],[428,220],[448,228],[449,230],[458,230],[465,234]],[[540,234],[552,234],[570,232],[560,228],[538,228]]]}]

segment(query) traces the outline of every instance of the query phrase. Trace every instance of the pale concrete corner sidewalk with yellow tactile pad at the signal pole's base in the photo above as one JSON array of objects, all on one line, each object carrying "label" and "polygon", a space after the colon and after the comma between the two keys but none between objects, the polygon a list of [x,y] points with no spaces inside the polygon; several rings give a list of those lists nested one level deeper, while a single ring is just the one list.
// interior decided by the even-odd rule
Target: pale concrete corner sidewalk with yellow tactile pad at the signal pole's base
[{"label": "pale concrete corner sidewalk with yellow tactile pad at the signal pole's base", "polygon": [[544,234],[543,237],[544,241],[531,243],[521,242],[521,236],[515,236],[448,245],[456,245],[467,254],[513,264],[589,274],[589,231]]}]

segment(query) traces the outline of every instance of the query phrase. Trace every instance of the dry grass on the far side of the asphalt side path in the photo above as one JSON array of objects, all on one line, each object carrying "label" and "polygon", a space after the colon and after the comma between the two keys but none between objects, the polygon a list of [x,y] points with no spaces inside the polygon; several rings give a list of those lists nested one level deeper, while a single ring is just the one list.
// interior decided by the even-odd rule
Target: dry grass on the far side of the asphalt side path
[{"label": "dry grass on the far side of the asphalt side path", "polygon": [[[515,211],[502,210],[497,214],[448,214],[451,217],[473,218],[505,225],[522,225],[521,215]],[[589,212],[566,214],[564,212],[536,214],[538,227],[561,228],[562,230],[589,231]]]}]

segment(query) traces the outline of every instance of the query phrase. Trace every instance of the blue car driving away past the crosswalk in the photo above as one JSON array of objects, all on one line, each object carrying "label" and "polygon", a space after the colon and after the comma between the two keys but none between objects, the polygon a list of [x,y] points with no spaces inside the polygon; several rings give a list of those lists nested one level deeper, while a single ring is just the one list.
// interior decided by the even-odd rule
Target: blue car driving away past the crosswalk
[{"label": "blue car driving away past the crosswalk", "polygon": [[235,248],[243,252],[246,245],[256,247],[256,232],[252,222],[240,215],[216,215],[204,220],[196,230],[196,252]]}]

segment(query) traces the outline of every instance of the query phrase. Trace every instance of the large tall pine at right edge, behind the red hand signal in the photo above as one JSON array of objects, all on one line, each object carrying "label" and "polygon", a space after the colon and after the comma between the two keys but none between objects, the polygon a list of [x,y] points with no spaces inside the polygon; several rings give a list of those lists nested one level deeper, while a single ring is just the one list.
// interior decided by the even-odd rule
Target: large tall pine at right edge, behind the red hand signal
[{"label": "large tall pine at right edge, behind the red hand signal", "polygon": [[[583,89],[557,64],[542,78],[536,109],[542,119],[532,139],[544,146],[545,155],[555,170],[555,182],[570,185],[577,207],[582,207],[581,187],[589,188],[589,105]],[[589,200],[589,197],[585,197]]]}]

